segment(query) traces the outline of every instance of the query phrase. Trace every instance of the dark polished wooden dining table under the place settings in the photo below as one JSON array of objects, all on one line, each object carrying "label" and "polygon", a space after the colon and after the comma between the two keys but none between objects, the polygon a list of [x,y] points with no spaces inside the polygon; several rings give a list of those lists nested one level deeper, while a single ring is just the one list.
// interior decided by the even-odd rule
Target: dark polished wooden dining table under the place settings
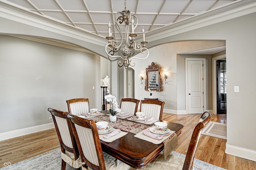
[{"label": "dark polished wooden dining table under the place settings", "polygon": [[[109,115],[110,112],[101,111],[105,115]],[[131,115],[132,117],[132,115]],[[120,118],[117,118],[117,120]],[[123,119],[123,121],[130,121],[128,118]],[[159,120],[158,120],[159,121]],[[183,125],[179,123],[173,123],[170,121],[161,122],[167,123],[167,128],[175,131],[177,135],[181,134],[181,130]],[[133,122],[134,123],[134,122]],[[154,123],[151,125],[145,125],[139,122],[136,122],[136,126],[148,126],[152,127]],[[129,127],[128,127],[129,128]],[[123,129],[121,129],[123,130]],[[133,132],[129,132],[127,130],[127,134],[112,141],[112,142],[105,142],[100,140],[102,150],[111,156],[121,160],[122,162],[128,164],[133,168],[143,168],[146,166],[150,161],[152,161],[160,152],[164,150],[164,143],[161,142],[160,144],[154,144],[152,142],[148,142],[146,140],[142,140],[140,138],[134,137]]]}]

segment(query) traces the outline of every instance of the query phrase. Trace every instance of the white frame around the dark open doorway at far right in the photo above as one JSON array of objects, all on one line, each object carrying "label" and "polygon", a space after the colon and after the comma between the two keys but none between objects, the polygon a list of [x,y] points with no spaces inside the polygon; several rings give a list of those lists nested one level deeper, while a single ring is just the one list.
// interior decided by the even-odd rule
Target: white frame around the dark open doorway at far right
[{"label": "white frame around the dark open doorway at far right", "polygon": [[214,115],[217,114],[217,74],[216,74],[216,63],[218,59],[223,59],[226,57],[226,54],[220,55],[218,57],[212,58],[212,112]]}]

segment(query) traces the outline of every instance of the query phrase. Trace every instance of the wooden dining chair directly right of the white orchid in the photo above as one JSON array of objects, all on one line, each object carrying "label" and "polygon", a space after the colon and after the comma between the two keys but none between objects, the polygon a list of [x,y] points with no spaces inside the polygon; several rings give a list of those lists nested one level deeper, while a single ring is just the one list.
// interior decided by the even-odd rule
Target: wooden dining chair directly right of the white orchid
[{"label": "wooden dining chair directly right of the white orchid", "polygon": [[120,102],[120,109],[122,109],[122,112],[135,115],[138,110],[139,103],[140,100],[137,99],[123,98]]}]

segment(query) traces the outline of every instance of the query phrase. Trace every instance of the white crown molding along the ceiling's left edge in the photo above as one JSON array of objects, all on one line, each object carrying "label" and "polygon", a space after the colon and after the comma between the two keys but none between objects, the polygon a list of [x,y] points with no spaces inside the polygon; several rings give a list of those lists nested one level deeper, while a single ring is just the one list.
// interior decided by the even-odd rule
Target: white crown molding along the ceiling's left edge
[{"label": "white crown molding along the ceiling's left edge", "polygon": [[54,18],[42,16],[36,12],[26,10],[26,8],[14,6],[8,1],[0,2],[0,17],[84,42],[93,43],[100,46],[106,45],[106,40],[102,36],[92,34],[86,30],[68,25],[59,20],[55,20]]}]

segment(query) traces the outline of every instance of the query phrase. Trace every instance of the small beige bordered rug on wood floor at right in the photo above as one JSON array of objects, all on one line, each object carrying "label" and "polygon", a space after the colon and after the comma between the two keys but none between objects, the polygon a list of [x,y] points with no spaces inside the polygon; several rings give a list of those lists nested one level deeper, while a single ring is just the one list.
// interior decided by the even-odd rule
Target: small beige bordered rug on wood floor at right
[{"label": "small beige bordered rug on wood floor at right", "polygon": [[227,125],[210,121],[201,134],[227,140]]}]

